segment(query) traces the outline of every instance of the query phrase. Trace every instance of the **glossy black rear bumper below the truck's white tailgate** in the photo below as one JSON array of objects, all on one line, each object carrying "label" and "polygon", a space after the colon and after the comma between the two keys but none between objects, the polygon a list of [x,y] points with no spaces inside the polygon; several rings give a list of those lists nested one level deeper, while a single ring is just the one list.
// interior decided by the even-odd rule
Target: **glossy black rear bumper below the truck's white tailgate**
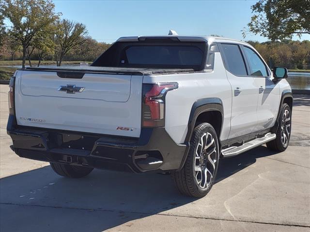
[{"label": "glossy black rear bumper below the truck's white tailgate", "polygon": [[177,145],[165,128],[142,128],[140,138],[16,126],[10,115],[7,133],[24,158],[118,171],[176,170],[186,145]]}]

